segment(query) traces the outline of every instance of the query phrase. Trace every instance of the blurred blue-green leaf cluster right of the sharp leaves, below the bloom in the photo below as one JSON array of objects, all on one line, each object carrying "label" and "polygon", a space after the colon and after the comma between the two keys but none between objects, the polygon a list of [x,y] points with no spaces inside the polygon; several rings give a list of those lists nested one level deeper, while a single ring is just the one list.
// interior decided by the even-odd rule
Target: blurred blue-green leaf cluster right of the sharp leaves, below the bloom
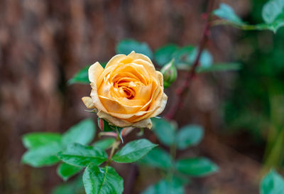
[{"label": "blurred blue-green leaf cluster right of the sharp leaves, below the bloom", "polygon": [[[175,158],[176,149],[188,149],[200,143],[204,130],[199,125],[187,125],[177,130],[174,124],[165,119],[152,119],[153,132],[159,141],[170,146],[170,153],[155,148],[138,163],[143,166],[159,168],[167,175],[154,185],[149,186],[143,194],[184,193],[188,178],[208,176],[218,171],[218,167],[208,158]],[[182,174],[188,178],[178,178]],[[183,177],[182,176],[182,177]]]}]

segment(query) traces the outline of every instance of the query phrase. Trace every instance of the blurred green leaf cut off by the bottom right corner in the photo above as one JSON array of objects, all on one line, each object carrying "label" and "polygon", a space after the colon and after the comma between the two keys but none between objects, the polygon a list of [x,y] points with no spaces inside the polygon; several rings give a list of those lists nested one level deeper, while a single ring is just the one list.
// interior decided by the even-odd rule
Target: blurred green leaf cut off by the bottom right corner
[{"label": "blurred green leaf cut off by the bottom right corner", "polygon": [[284,193],[284,179],[275,170],[271,170],[261,180],[260,185],[261,194],[283,194]]}]

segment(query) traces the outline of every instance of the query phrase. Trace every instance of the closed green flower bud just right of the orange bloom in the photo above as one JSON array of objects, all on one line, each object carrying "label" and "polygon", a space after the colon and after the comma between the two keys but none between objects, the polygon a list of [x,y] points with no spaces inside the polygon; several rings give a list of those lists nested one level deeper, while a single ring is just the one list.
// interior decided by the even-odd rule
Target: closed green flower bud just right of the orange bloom
[{"label": "closed green flower bud just right of the orange bloom", "polygon": [[166,64],[160,72],[163,73],[164,87],[169,87],[178,77],[178,71],[175,68],[175,59]]}]

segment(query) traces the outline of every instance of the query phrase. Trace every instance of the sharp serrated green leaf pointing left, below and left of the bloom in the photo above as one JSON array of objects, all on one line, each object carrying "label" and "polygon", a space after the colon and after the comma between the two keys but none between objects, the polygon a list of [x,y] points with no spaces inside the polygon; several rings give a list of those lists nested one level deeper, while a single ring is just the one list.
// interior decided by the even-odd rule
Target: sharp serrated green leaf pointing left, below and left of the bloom
[{"label": "sharp serrated green leaf pointing left, below and left of the bloom", "polygon": [[95,149],[93,146],[75,143],[67,146],[65,151],[60,151],[58,158],[73,166],[87,166],[89,163],[99,165],[107,161],[107,153],[102,149]]}]

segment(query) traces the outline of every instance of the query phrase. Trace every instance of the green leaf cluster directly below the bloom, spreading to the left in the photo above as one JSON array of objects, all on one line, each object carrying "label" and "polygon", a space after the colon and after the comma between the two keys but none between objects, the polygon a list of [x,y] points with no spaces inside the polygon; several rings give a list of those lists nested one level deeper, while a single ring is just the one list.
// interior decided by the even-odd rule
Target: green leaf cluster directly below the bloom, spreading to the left
[{"label": "green leaf cluster directly below the bloom, spreading to the left", "polygon": [[[104,125],[106,128],[109,126]],[[109,166],[111,161],[130,163],[137,161],[153,149],[147,139],[131,141],[122,149],[108,156],[106,151],[116,144],[114,139],[102,139],[88,146],[94,139],[96,128],[91,119],[85,119],[72,126],[64,134],[31,133],[23,136],[23,144],[28,151],[23,155],[23,163],[34,167],[59,164],[57,173],[63,180],[68,180],[84,169],[84,188],[89,193],[122,193],[123,179]],[[104,166],[101,166],[104,162]],[[62,185],[53,193],[75,193],[76,185]],[[80,188],[80,187],[79,187]],[[71,192],[72,191],[72,192]]]}]

